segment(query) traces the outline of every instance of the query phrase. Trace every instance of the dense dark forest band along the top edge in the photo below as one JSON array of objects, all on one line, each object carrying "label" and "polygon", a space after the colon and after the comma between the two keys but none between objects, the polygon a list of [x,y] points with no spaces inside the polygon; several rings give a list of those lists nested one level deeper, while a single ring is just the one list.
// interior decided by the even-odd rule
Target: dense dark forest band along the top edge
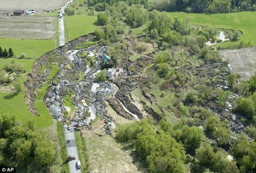
[{"label": "dense dark forest band along the top edge", "polygon": [[119,0],[88,0],[89,6],[94,6],[97,11],[105,11],[108,6],[113,6],[118,2],[131,4],[141,4],[149,11],[186,11],[195,13],[227,13],[239,11],[255,11],[256,4],[254,0],[137,0],[137,1],[119,1]]}]

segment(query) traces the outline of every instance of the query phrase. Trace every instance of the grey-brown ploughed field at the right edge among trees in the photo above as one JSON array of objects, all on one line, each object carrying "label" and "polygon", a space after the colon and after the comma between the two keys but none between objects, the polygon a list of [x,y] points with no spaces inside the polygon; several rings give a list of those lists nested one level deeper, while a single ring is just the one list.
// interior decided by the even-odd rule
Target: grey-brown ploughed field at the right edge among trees
[{"label": "grey-brown ploughed field at the right edge among trees", "polygon": [[231,69],[241,75],[241,80],[247,80],[256,70],[256,47],[227,49],[220,51],[224,59],[229,60]]}]

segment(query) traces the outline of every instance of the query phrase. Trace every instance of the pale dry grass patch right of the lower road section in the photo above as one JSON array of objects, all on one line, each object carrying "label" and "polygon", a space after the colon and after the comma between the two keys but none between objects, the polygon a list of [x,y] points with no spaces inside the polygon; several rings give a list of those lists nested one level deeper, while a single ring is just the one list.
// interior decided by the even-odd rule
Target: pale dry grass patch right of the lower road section
[{"label": "pale dry grass patch right of the lower road section", "polygon": [[132,163],[129,150],[123,150],[122,145],[109,135],[98,135],[104,131],[104,127],[82,131],[87,145],[90,172],[141,172]]}]

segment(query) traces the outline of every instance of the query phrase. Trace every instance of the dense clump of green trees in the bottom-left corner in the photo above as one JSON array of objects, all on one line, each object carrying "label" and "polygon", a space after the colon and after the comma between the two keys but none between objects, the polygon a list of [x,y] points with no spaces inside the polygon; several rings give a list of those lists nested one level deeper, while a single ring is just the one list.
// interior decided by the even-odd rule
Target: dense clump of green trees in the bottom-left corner
[{"label": "dense clump of green trees in the bottom-left corner", "polygon": [[15,116],[0,115],[0,164],[27,168],[37,164],[41,170],[47,170],[55,160],[55,150],[33,122],[20,125]]}]

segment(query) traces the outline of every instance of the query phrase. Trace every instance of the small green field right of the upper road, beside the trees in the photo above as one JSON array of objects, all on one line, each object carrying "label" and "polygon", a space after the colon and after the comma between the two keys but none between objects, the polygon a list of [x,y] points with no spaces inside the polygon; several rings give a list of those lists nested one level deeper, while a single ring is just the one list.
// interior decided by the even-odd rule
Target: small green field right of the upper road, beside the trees
[{"label": "small green field right of the upper road, beside the trees", "polygon": [[[94,32],[97,21],[97,17],[88,16],[88,15],[74,15],[68,16],[67,21],[65,22],[65,35],[68,34],[68,41],[74,40],[86,35],[88,33]],[[68,31],[68,33],[66,33]]]}]

